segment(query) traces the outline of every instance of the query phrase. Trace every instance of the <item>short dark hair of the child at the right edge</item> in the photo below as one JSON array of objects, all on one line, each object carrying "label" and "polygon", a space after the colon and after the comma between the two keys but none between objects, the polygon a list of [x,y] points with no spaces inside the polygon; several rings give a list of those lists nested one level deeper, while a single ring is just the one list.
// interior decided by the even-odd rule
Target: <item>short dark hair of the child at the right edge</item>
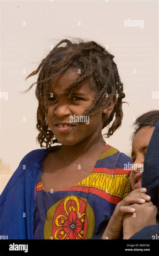
[{"label": "short dark hair of the child at the right edge", "polygon": [[131,140],[133,140],[135,134],[142,127],[145,127],[145,126],[150,126],[150,127],[156,126],[158,121],[159,121],[159,110],[152,110],[152,111],[149,111],[149,112],[141,115],[140,117],[138,117],[136,119],[136,121],[134,122],[135,131],[131,135]]}]

